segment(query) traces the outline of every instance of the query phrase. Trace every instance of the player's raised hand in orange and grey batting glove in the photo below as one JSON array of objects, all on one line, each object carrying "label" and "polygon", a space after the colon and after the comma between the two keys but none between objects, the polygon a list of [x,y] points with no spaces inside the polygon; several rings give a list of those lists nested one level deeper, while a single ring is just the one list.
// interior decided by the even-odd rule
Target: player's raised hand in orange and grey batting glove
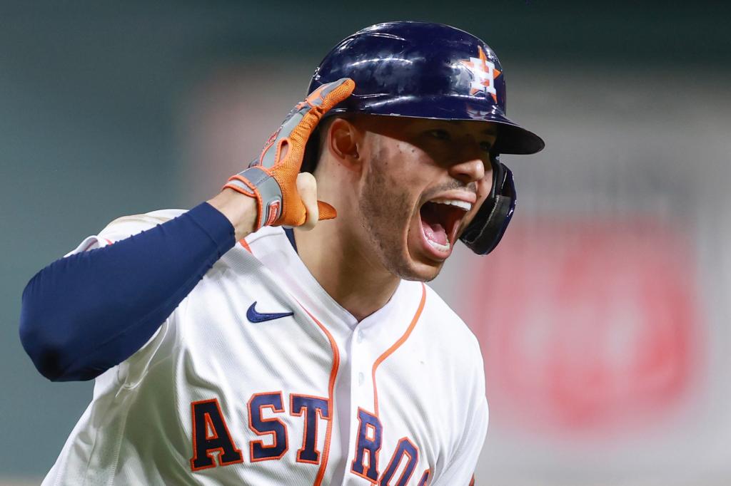
[{"label": "player's raised hand in orange and grey batting glove", "polygon": [[[269,137],[260,158],[251,162],[248,169],[232,176],[224,185],[224,188],[256,199],[254,231],[266,225],[312,227],[317,220],[336,217],[335,208],[317,201],[314,177],[303,178],[300,167],[307,139],[322,115],[350,96],[354,88],[355,82],[342,78],[314,90],[289,112],[279,130]],[[300,191],[302,184],[306,189]],[[305,198],[317,201],[317,204],[303,201]]]}]

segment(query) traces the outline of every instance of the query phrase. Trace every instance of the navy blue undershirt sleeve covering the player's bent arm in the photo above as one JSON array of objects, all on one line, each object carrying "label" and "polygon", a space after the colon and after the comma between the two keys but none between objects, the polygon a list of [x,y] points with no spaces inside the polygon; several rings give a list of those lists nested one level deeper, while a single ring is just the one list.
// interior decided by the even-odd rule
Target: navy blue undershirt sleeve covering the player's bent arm
[{"label": "navy blue undershirt sleeve covering the player's bent arm", "polygon": [[235,244],[208,203],[135,236],[61,258],[23,290],[20,341],[52,381],[86,380],[148,342]]}]

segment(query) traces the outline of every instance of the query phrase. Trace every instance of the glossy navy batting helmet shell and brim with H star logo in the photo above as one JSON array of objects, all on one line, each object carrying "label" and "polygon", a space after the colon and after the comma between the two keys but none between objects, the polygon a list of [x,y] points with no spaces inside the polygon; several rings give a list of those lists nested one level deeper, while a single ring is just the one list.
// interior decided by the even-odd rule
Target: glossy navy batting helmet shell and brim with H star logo
[{"label": "glossy navy batting helmet shell and brim with H star logo", "polygon": [[537,153],[545,145],[506,116],[505,79],[493,50],[458,28],[424,22],[364,28],[327,53],[307,92],[342,77],[355,81],[355,91],[326,116],[488,121],[498,129],[496,153]]}]

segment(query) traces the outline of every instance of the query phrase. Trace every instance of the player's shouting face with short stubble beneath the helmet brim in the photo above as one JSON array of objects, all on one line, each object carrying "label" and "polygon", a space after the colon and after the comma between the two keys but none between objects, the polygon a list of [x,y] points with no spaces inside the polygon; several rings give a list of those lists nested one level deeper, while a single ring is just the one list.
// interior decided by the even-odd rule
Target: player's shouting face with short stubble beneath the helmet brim
[{"label": "player's shouting face with short stubble beneath the helmet brim", "polygon": [[360,160],[354,231],[390,273],[433,279],[490,192],[495,126],[375,115],[350,123]]}]

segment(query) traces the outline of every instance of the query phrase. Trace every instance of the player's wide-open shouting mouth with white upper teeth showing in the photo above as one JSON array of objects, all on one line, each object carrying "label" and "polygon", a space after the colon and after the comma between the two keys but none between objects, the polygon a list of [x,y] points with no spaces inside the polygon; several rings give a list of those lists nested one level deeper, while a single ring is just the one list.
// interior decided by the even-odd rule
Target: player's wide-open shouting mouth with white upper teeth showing
[{"label": "player's wide-open shouting mouth with white upper teeth showing", "polygon": [[439,252],[449,252],[457,239],[457,232],[464,215],[472,204],[458,199],[433,199],[421,209],[421,225],[429,246]]}]

